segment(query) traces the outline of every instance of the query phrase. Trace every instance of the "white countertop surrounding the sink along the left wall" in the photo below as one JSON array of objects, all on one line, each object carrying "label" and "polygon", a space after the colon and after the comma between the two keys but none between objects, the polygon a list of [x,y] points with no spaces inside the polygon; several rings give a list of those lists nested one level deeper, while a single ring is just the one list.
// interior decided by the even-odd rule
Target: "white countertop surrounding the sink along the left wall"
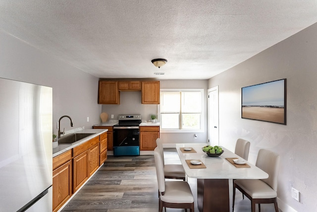
[{"label": "white countertop surrounding the sink along the left wall", "polygon": [[95,138],[96,136],[99,136],[105,132],[107,132],[107,129],[85,129],[85,130],[80,130],[80,131],[76,131],[76,133],[95,133],[94,135],[88,136],[80,141],[76,141],[73,142],[71,144],[58,144],[58,146],[56,148],[53,148],[53,157],[74,148],[75,146],[78,146],[88,140],[91,140],[93,138]]}]

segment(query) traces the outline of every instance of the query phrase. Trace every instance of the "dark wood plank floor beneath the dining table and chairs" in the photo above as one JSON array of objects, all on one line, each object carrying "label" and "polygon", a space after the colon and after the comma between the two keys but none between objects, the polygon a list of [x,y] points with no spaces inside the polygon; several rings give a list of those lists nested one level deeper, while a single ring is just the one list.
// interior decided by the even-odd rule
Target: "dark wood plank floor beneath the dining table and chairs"
[{"label": "dark wood plank floor beneath the dining table and chairs", "polygon": [[[180,163],[175,151],[165,151],[164,158],[165,163]],[[188,178],[188,183],[197,199],[196,179]],[[232,186],[230,189],[232,190]],[[230,204],[231,202],[230,200]],[[158,212],[158,210],[158,182],[154,156],[140,155],[108,156],[105,164],[61,212]],[[166,211],[184,212],[180,209]],[[261,211],[274,212],[273,204],[261,205]],[[195,212],[199,212],[197,202],[195,202]],[[242,200],[242,194],[238,190],[234,212],[251,212],[250,200],[247,198]]]}]

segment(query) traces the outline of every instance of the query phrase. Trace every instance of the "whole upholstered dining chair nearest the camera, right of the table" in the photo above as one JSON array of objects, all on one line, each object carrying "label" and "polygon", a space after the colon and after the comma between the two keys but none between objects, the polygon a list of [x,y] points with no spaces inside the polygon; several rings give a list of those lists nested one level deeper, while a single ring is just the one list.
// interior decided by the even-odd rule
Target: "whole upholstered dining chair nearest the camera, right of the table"
[{"label": "whole upholstered dining chair nearest the camera, right of the table", "polygon": [[234,210],[235,191],[238,189],[246,197],[251,200],[251,211],[256,211],[256,204],[273,203],[275,212],[278,212],[277,207],[277,178],[279,169],[280,156],[275,152],[267,149],[260,149],[257,157],[256,166],[268,174],[267,179],[237,179],[233,182],[233,203],[232,211]]}]

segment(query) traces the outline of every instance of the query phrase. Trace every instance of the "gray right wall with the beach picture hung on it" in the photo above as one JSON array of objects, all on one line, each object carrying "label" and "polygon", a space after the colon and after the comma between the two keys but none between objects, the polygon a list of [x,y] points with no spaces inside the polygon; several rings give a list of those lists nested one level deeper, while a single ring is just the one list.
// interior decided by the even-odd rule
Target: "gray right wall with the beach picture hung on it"
[{"label": "gray right wall with the beach picture hung on it", "polygon": [[[283,212],[317,211],[317,24],[212,77],[219,85],[219,142],[234,150],[238,138],[251,141],[249,160],[259,149],[281,156],[278,192]],[[287,125],[241,119],[241,87],[287,78]],[[300,203],[291,188],[300,191]]]}]

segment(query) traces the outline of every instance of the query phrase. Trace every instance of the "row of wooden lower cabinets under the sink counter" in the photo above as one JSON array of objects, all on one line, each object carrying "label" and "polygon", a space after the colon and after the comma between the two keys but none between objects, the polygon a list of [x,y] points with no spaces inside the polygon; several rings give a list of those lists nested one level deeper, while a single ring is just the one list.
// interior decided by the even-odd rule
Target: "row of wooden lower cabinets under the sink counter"
[{"label": "row of wooden lower cabinets under the sink counter", "polygon": [[106,153],[107,132],[53,157],[53,212],[97,171]]}]

